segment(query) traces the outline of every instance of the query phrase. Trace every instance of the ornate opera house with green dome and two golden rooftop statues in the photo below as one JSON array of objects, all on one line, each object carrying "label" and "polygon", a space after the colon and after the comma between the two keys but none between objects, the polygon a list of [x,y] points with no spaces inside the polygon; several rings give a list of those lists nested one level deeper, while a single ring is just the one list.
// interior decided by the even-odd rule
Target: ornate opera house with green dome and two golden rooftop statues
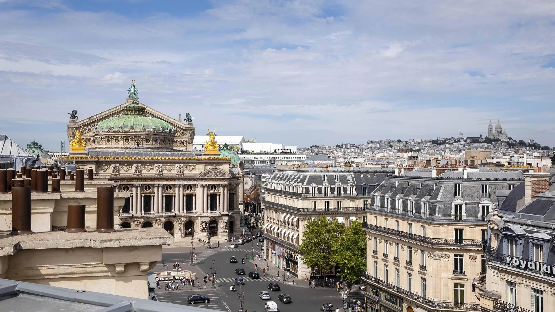
[{"label": "ornate opera house with green dome and two golden rooftop statues", "polygon": [[161,227],[176,242],[210,237],[223,243],[239,233],[243,172],[217,152],[192,150],[192,123],[157,112],[130,92],[124,104],[71,119],[67,128],[68,139],[83,129],[84,152],[67,158],[75,168],[92,168],[95,179],[129,193],[120,227]]}]

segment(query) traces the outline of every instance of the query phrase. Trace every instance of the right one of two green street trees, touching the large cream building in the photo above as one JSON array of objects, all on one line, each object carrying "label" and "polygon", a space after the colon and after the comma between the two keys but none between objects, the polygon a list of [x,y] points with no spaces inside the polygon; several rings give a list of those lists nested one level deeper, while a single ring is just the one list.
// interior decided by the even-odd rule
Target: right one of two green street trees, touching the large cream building
[{"label": "right one of two green street trees, touching the large cream building", "polygon": [[359,221],[351,222],[335,241],[332,259],[339,266],[337,275],[354,284],[366,271],[366,234]]}]

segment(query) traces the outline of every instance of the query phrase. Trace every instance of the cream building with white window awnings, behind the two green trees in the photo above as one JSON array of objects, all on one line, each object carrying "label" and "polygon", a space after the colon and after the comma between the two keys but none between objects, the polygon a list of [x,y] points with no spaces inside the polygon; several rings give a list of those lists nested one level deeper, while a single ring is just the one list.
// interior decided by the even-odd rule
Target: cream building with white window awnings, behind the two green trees
[{"label": "cream building with white window awnings, behind the two green trees", "polygon": [[364,222],[370,193],[393,173],[362,169],[366,168],[278,166],[263,200],[269,261],[299,278],[310,276],[311,268],[302,263],[297,250],[306,223],[324,215],[345,225]]}]

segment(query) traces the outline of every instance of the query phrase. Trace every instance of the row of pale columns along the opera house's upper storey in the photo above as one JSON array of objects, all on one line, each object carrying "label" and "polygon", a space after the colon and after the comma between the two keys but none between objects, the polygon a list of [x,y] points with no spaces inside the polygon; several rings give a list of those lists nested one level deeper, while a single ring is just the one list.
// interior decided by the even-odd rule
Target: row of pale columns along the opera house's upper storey
[{"label": "row of pale columns along the opera house's upper storey", "polygon": [[[151,196],[150,213],[154,214],[172,214],[172,213],[188,213],[185,211],[186,195],[193,195],[193,203],[191,212],[209,213],[210,211],[210,195],[217,195],[216,211],[221,213],[229,213],[229,187],[228,184],[201,184],[196,185],[196,192],[188,192],[185,184],[169,184],[171,190],[164,193],[164,185],[153,185],[152,192],[144,193],[143,185],[133,184],[130,190],[129,212],[140,214],[144,208],[144,197]],[[210,187],[215,185],[215,189]],[[119,187],[116,189],[119,190]],[[166,212],[166,195],[171,195],[171,212]]]}]

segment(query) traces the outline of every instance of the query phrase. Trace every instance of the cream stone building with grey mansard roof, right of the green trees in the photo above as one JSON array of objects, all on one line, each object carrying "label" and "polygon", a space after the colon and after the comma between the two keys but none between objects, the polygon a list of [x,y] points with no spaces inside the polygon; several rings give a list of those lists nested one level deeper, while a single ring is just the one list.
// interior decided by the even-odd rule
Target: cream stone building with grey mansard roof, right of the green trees
[{"label": "cream stone building with grey mansard roof, right of the green trees", "polygon": [[367,205],[368,311],[480,309],[473,280],[485,275],[486,219],[496,190],[520,172],[431,170],[388,177]]}]

